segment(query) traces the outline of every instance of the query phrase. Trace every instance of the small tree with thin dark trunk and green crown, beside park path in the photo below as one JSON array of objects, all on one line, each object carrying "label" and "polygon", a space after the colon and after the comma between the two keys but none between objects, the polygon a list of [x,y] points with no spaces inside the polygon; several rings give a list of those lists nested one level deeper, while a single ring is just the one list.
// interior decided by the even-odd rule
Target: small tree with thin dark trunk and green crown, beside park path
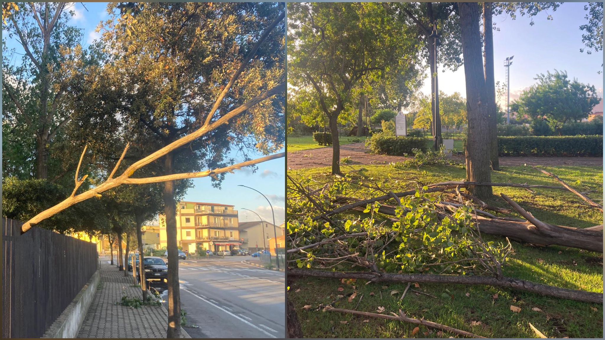
[{"label": "small tree with thin dark trunk and green crown, beside park path", "polygon": [[292,23],[288,80],[293,87],[304,89],[301,93],[312,93],[312,102],[319,103],[327,117],[332,133],[332,173],[339,174],[338,123],[345,120],[341,117],[345,108],[358,104],[353,90],[362,79],[390,77],[413,67],[417,45],[407,27],[381,4],[292,2],[288,6]]}]

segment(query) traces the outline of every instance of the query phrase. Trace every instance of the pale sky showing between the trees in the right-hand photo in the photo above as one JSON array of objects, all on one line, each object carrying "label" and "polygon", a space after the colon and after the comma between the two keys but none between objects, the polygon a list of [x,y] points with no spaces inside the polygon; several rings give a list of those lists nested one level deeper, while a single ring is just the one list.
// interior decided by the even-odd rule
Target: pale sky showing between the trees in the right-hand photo
[{"label": "pale sky showing between the trees in the right-hand photo", "polygon": [[[599,96],[603,97],[603,51],[586,54],[580,52],[584,48],[580,25],[586,24],[584,11],[586,2],[566,2],[556,11],[547,11],[534,17],[534,25],[529,25],[530,18],[517,15],[513,20],[505,15],[494,16],[494,23],[500,31],[494,31],[494,77],[505,82],[504,60],[514,56],[511,65],[511,102],[518,98],[519,93],[535,83],[538,73],[567,71],[569,77],[577,77],[578,81],[595,85]],[[553,20],[547,20],[548,15]],[[425,80],[421,91],[431,93],[431,82]],[[459,92],[465,94],[464,68],[456,72],[439,71],[439,90],[446,94]],[[505,99],[506,100],[506,99]],[[505,105],[502,106],[505,108]]]}]

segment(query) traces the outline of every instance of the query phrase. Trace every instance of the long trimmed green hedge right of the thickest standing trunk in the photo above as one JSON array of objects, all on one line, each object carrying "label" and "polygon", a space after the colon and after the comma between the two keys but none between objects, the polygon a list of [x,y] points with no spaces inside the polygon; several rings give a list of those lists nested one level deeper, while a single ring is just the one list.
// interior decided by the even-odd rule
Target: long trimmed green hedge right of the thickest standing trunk
[{"label": "long trimmed green hedge right of the thickest standing trunk", "polygon": [[603,157],[603,136],[498,137],[501,156]]}]

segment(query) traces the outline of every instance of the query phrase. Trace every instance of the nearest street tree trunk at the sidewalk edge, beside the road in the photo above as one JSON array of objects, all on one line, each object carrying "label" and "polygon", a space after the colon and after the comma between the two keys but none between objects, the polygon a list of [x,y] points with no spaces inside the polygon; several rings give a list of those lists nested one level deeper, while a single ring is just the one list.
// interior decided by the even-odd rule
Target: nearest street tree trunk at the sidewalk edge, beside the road
[{"label": "nearest street tree trunk at the sidewalk edge, beside the road", "polygon": [[[172,153],[165,156],[164,170],[172,174]],[[174,181],[164,183],[164,214],[166,215],[166,249],[168,249],[168,329],[166,338],[180,338],[181,299],[178,286],[177,206],[174,202]],[[143,276],[142,276],[143,277]]]}]

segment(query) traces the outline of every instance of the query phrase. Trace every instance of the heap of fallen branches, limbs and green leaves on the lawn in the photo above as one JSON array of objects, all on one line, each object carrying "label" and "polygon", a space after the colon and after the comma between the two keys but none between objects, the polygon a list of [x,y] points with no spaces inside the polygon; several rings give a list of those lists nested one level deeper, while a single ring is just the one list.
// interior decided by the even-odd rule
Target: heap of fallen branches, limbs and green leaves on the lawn
[{"label": "heap of fallen branches, limbs and green leaves on the lawn", "polygon": [[[379,183],[363,169],[327,182],[312,177],[295,180],[288,176],[288,180],[290,277],[485,284],[603,302],[601,293],[506,278],[502,273],[506,258],[513,252],[509,238],[602,252],[602,227],[554,226],[538,220],[504,194],[502,198],[512,209],[489,206],[467,190],[477,185],[530,191],[546,186],[464,181],[431,185],[413,177]],[[558,180],[563,186],[548,189],[574,192]],[[602,210],[601,204],[574,193],[587,206]],[[511,217],[512,210],[525,220]],[[482,234],[502,235],[506,242],[486,242]]]}]

